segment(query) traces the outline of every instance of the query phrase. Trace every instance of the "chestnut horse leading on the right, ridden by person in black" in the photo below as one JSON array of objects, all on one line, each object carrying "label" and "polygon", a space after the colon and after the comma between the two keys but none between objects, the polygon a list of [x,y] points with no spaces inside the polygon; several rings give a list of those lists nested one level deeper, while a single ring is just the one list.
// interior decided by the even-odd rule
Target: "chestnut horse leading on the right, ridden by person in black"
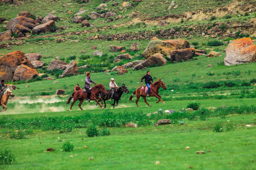
[{"label": "chestnut horse leading on the right, ridden by person in black", "polygon": [[[149,96],[155,96],[157,99],[159,99],[158,101],[156,101],[156,103],[161,101],[163,104],[165,104],[165,102],[161,99],[161,96],[158,94],[158,92],[159,92],[158,90],[159,90],[160,87],[162,87],[165,90],[167,89],[166,86],[165,86],[165,83],[161,79],[159,79],[158,81],[156,81],[155,83],[152,84],[152,86],[151,86],[151,91],[152,92],[149,93]],[[132,95],[130,96],[129,101],[131,101],[133,95],[136,94],[136,97],[137,97],[137,100],[136,100],[137,107],[138,107],[138,100],[139,100],[140,96],[142,96],[143,99],[144,99],[144,102],[146,102],[145,88],[146,88],[146,86],[140,86],[139,88],[137,88],[132,93]],[[148,104],[148,102],[146,102],[146,104],[148,106],[151,106],[150,104]]]}]

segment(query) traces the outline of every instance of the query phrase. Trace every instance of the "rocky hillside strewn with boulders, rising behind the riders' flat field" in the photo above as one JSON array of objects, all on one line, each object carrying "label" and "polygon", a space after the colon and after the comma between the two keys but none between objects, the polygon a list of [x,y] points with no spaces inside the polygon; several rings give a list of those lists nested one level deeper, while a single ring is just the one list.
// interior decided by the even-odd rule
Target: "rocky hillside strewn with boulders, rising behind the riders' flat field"
[{"label": "rocky hillside strewn with boulders, rising behind the riders' flat field", "polygon": [[[49,74],[52,69],[48,68],[55,59],[66,64],[60,66],[63,69],[54,69],[63,71],[73,68],[74,72],[64,72],[75,75],[85,71],[115,70],[115,66],[134,61],[137,63],[139,60],[148,63],[142,52],[146,51],[154,38],[190,41],[190,45],[185,48],[177,44],[174,45],[177,48],[167,46],[171,50],[194,48],[192,54],[191,50],[189,54],[188,50],[183,51],[183,54],[180,51],[169,53],[171,50],[168,50],[168,54],[160,52],[163,56],[156,55],[158,59],[155,59],[178,62],[171,56],[183,61],[201,55],[201,52],[197,52],[199,50],[204,51],[203,54],[212,50],[223,52],[229,40],[243,37],[254,40],[255,6],[254,0],[206,0],[204,3],[198,0],[52,0],[50,5],[48,0],[0,0],[1,55],[17,50],[27,55],[34,52],[42,56],[40,60],[31,60],[33,69],[36,68],[38,73],[47,74],[48,71]],[[209,41],[217,45],[209,45]],[[120,52],[112,51],[110,45],[123,49]],[[79,51],[76,46],[80,46]],[[221,46],[221,49],[212,46]],[[121,54],[131,57],[118,57]],[[81,56],[76,57],[78,55]],[[96,59],[93,56],[102,57]],[[139,67],[133,65],[132,68],[163,65],[163,62],[159,64],[155,61]],[[97,69],[90,66],[96,66]],[[75,67],[80,67],[80,71]],[[1,70],[1,75],[5,74],[5,69]]]}]

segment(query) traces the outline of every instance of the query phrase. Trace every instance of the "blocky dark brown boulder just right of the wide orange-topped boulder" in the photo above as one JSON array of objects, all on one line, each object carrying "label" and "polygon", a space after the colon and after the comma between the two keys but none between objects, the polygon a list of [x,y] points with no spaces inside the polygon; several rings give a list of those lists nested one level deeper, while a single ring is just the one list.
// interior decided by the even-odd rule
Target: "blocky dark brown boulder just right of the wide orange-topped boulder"
[{"label": "blocky dark brown boulder just right of the wide orange-topped boulder", "polygon": [[170,51],[170,60],[172,62],[180,62],[181,60],[187,61],[189,59],[192,59],[194,55],[195,55],[194,48],[173,50],[173,51]]}]

